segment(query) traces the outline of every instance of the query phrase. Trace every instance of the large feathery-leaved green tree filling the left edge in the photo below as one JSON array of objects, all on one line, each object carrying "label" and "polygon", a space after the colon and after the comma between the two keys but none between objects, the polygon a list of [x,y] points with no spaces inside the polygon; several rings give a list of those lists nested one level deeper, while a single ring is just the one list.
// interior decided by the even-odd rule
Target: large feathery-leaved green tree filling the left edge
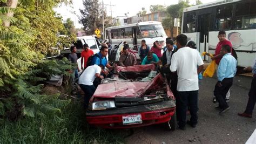
[{"label": "large feathery-leaved green tree filling the left edge", "polygon": [[[43,36],[57,37],[55,30],[63,26],[51,11],[59,1],[23,0],[18,6],[16,2],[0,0],[0,118],[16,119],[21,114],[42,116],[48,112],[59,112],[59,108],[69,101],[58,100],[58,95],[42,94],[43,85],[37,85],[38,81],[45,80],[38,77],[38,73],[50,70],[62,73],[60,67],[71,68],[69,65],[57,65],[55,61],[52,61],[51,68],[43,70],[37,67],[44,64],[42,49],[53,45],[42,42]],[[58,28],[52,28],[46,35],[44,29],[51,29],[54,22],[60,22],[56,23]],[[45,45],[38,49],[36,46],[40,43]]]}]

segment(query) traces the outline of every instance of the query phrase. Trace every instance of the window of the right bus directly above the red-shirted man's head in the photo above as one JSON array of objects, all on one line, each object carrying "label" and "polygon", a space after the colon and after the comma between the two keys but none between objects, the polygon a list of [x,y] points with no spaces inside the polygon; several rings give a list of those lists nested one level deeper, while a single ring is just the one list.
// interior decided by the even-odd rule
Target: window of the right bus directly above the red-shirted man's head
[{"label": "window of the right bus directly above the red-shirted man's head", "polygon": [[232,5],[220,6],[216,9],[215,30],[229,30],[232,22]]}]

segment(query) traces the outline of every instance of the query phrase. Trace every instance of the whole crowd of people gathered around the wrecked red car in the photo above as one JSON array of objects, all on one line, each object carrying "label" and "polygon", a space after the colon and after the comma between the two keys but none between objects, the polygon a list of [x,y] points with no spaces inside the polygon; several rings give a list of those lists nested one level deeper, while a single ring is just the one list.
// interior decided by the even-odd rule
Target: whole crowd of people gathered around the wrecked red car
[{"label": "whole crowd of people gathered around the wrecked red car", "polygon": [[[223,114],[230,107],[228,106],[230,88],[233,84],[233,77],[237,71],[237,59],[235,59],[232,44],[226,40],[225,31],[219,31],[219,43],[214,54],[206,53],[216,63],[216,73],[218,81],[214,88],[213,102],[218,102],[219,114]],[[196,43],[192,40],[187,41],[187,37],[183,34],[177,36],[176,45],[171,38],[166,38],[166,46],[162,49],[158,41],[153,43],[150,48],[145,40],[142,40],[141,46],[138,48],[138,55],[142,61],[142,65],[156,64],[161,66],[161,72],[165,74],[167,81],[170,82],[171,90],[176,98],[176,111],[178,125],[180,129],[185,129],[188,124],[196,127],[198,122],[198,90],[199,80],[203,78],[201,71],[203,70],[203,59],[197,51]],[[100,79],[103,79],[109,70],[113,69],[106,58],[109,50],[112,49],[111,44],[102,44],[100,52],[93,54],[87,44],[83,45],[84,50],[81,53],[81,67],[75,70],[75,77],[79,77],[79,86],[85,93],[85,104],[96,91]],[[162,54],[162,50],[164,51]],[[77,63],[76,47],[71,47],[69,60]],[[128,44],[124,43],[120,58],[119,66],[137,65],[136,54],[130,50]],[[107,70],[106,68],[107,67]],[[252,111],[256,101],[256,59],[252,67],[247,68],[253,71],[253,80],[251,90],[249,92],[249,100],[244,113],[238,113],[240,116],[252,117]],[[187,108],[191,114],[190,120],[186,121]]]}]

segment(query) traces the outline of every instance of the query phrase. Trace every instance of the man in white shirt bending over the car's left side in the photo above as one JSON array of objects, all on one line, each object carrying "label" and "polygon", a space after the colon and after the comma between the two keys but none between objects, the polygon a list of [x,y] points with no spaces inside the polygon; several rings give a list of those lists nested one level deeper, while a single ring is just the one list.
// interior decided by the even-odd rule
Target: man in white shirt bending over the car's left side
[{"label": "man in white shirt bending over the car's left side", "polygon": [[84,102],[86,107],[88,106],[93,93],[96,91],[93,81],[96,77],[100,79],[104,78],[103,76],[100,76],[100,73],[102,73],[103,70],[103,65],[88,66],[79,77],[78,84],[84,91]]}]

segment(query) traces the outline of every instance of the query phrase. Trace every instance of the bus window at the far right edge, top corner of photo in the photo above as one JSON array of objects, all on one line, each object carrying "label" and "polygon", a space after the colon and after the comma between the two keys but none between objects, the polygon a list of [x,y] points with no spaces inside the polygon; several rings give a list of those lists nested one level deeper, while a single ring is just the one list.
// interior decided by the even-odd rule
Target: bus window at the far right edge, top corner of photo
[{"label": "bus window at the far right edge, top corner of photo", "polygon": [[256,2],[236,5],[234,29],[256,28]]}]

